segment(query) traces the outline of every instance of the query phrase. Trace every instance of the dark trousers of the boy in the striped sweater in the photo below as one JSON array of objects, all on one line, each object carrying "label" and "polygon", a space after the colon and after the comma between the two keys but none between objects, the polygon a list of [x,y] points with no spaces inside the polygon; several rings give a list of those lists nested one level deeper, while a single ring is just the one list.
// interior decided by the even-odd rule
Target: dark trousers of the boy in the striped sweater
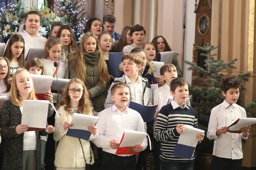
[{"label": "dark trousers of the boy in the striped sweater", "polygon": [[194,162],[172,162],[172,161],[163,161],[162,170],[193,170]]}]

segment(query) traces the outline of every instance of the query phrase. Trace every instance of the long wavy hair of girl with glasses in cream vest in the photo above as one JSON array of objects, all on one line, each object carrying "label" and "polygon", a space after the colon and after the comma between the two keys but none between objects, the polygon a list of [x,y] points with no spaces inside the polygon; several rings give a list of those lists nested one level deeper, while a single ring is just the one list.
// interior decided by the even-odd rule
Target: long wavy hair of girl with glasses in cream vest
[{"label": "long wavy hair of girl with glasses in cream vest", "polygon": [[92,114],[93,109],[91,106],[91,101],[89,99],[89,94],[88,94],[88,90],[85,87],[85,84],[79,80],[79,79],[72,79],[70,80],[64,89],[64,93],[63,93],[63,98],[62,100],[59,102],[58,107],[65,105],[66,107],[64,108],[65,111],[69,112],[68,109],[71,108],[70,107],[70,96],[68,95],[68,89],[69,89],[69,85],[71,85],[72,83],[78,83],[80,85],[83,86],[83,94],[81,99],[79,100],[79,106],[78,106],[78,113],[81,114]]}]

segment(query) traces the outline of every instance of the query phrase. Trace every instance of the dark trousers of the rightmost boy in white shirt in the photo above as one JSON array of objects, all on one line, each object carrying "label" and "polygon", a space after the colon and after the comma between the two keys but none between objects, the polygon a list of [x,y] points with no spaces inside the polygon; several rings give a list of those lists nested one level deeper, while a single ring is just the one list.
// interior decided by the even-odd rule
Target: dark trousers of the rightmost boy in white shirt
[{"label": "dark trousers of the rightmost boy in white shirt", "polygon": [[242,170],[242,159],[227,159],[213,155],[212,170]]}]

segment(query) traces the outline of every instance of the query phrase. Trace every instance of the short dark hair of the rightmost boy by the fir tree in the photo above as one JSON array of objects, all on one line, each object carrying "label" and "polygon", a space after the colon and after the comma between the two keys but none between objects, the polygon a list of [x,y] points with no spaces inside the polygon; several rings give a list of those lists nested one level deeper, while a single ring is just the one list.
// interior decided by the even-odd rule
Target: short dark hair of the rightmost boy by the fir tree
[{"label": "short dark hair of the rightmost boy by the fir tree", "polygon": [[239,88],[240,84],[240,81],[235,76],[229,76],[223,79],[221,89],[226,93],[230,88]]}]

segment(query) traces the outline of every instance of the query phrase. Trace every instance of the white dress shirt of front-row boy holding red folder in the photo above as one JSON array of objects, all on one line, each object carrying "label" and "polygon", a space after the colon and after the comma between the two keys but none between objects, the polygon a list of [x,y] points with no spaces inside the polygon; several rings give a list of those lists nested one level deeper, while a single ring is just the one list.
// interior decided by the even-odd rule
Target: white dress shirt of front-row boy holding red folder
[{"label": "white dress shirt of front-row boy holding red folder", "polygon": [[[102,147],[102,150],[108,153],[115,154],[117,149],[110,147],[112,139],[120,142],[125,130],[134,130],[145,132],[144,122],[141,115],[127,108],[124,112],[120,112],[115,105],[107,108],[97,115],[99,117],[96,127],[98,128],[98,136],[93,142],[97,147]],[[148,145],[147,138],[143,141],[144,149]],[[119,155],[130,156],[130,155]]]}]

